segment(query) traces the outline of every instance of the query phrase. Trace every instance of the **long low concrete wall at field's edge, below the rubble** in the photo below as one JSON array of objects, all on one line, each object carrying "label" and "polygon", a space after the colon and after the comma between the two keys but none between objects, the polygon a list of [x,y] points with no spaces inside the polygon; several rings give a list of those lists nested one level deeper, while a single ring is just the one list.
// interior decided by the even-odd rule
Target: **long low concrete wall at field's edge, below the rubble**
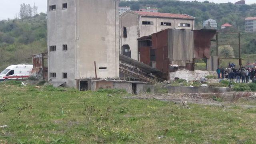
[{"label": "long low concrete wall at field's edge, below the rubble", "polygon": [[232,88],[212,88],[212,87],[187,87],[187,86],[168,86],[168,93],[222,93],[232,92]]}]

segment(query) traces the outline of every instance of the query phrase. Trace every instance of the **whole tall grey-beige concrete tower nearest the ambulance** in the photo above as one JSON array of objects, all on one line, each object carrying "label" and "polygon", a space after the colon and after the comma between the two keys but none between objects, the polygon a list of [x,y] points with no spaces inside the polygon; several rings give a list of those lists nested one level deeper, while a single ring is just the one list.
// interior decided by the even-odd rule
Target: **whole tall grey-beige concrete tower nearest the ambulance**
[{"label": "whole tall grey-beige concrete tower nearest the ambulance", "polygon": [[[119,77],[118,0],[47,0],[48,80]],[[96,65],[94,65],[96,62]]]}]

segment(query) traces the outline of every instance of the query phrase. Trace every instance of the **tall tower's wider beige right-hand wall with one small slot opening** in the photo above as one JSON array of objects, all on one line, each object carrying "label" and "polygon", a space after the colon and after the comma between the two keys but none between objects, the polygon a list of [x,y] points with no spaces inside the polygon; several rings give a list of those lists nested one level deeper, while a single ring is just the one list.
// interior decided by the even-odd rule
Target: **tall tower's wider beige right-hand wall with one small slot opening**
[{"label": "tall tower's wider beige right-hand wall with one small slot opening", "polygon": [[[119,77],[117,0],[77,0],[77,77]],[[99,69],[106,67],[107,69]]]}]

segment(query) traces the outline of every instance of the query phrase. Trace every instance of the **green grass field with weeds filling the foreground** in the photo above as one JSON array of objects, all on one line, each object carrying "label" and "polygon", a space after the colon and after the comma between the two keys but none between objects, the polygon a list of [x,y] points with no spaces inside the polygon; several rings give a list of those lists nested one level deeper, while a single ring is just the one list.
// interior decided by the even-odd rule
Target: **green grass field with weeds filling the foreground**
[{"label": "green grass field with weeds filling the foreground", "polygon": [[[124,99],[122,90],[0,83],[0,144],[253,144],[256,108]],[[250,101],[250,104],[255,102]],[[164,138],[159,138],[160,136]]]}]

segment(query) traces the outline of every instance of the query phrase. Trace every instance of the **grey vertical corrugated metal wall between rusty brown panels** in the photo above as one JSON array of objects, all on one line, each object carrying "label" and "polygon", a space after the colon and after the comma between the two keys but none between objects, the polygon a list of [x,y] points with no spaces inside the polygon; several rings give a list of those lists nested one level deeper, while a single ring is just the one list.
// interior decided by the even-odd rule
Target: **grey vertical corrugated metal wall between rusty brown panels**
[{"label": "grey vertical corrugated metal wall between rusty brown panels", "polygon": [[171,64],[186,67],[194,57],[194,33],[192,30],[168,29],[168,57]]}]

